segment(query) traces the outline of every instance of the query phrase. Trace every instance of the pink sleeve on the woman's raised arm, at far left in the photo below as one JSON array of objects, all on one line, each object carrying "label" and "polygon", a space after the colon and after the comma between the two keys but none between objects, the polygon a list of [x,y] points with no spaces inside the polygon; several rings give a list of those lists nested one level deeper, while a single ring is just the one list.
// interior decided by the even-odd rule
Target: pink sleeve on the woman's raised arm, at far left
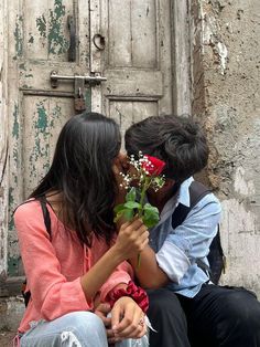
[{"label": "pink sleeve on the woman's raised arm, at far left", "polygon": [[14,224],[28,286],[41,315],[53,320],[71,312],[91,309],[93,302],[86,301],[80,278],[67,282],[61,273],[40,203],[32,201],[20,206],[14,213]]}]

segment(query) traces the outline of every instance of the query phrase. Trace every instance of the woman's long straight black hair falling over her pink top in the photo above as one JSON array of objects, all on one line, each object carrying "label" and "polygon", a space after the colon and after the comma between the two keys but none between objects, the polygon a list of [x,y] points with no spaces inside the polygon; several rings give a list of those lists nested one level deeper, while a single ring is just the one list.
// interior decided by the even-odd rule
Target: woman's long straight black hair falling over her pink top
[{"label": "woman's long straight black hair falling over her pink top", "polygon": [[37,199],[50,191],[59,192],[68,222],[88,246],[91,232],[108,243],[115,232],[112,160],[120,146],[120,130],[113,119],[98,113],[72,117],[58,136],[48,172],[30,196]]}]

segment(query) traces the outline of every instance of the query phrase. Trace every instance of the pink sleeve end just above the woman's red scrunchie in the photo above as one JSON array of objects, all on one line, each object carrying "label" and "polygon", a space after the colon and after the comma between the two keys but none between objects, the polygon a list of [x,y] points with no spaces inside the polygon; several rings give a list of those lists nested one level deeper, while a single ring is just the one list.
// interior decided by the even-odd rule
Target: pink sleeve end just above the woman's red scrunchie
[{"label": "pink sleeve end just above the woman's red scrunchie", "polygon": [[121,263],[100,288],[100,301],[106,302],[108,293],[120,283],[128,283],[133,278],[132,266],[128,262]]}]

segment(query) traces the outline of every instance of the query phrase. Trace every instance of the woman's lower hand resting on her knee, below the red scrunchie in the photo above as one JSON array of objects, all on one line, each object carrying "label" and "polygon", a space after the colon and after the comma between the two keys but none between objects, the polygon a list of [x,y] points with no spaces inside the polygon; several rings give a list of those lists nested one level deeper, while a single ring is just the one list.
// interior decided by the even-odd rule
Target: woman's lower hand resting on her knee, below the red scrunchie
[{"label": "woman's lower hand resting on her knee, below the red scrunchie", "polygon": [[111,311],[113,340],[141,338],[147,333],[144,313],[129,296],[120,297]]}]

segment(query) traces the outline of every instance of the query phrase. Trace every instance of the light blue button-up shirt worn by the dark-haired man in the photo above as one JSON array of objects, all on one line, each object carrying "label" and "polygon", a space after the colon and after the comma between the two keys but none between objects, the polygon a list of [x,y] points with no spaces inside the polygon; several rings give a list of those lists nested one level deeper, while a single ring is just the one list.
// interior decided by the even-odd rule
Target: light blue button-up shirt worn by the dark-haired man
[{"label": "light blue button-up shirt worn by the dark-haired man", "polygon": [[174,197],[164,206],[160,222],[150,230],[150,246],[156,253],[159,266],[169,276],[173,292],[194,297],[208,275],[197,266],[196,260],[208,265],[209,245],[217,233],[220,203],[213,193],[206,194],[189,211],[185,221],[172,228],[172,214],[178,203],[189,207],[193,178],[185,180]]}]

